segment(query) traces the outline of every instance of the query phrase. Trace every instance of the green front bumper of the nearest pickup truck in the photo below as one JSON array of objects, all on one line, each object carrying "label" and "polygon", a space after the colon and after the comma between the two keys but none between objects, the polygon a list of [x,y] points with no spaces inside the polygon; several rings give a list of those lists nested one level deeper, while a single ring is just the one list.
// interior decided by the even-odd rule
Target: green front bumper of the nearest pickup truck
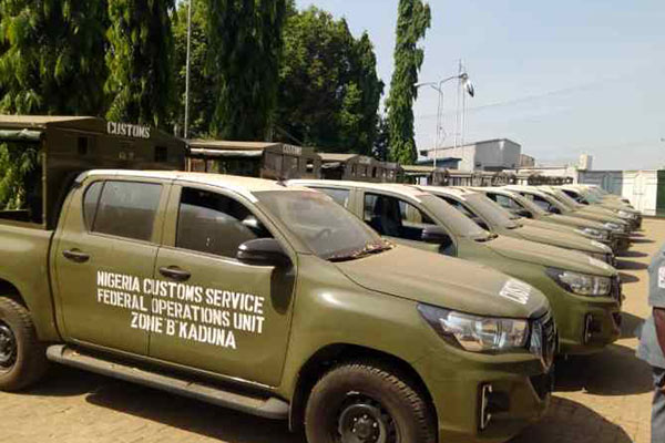
[{"label": "green front bumper of the nearest pickup truck", "polygon": [[456,353],[432,352],[415,364],[439,412],[440,442],[505,442],[544,415],[552,377],[535,356]]}]

